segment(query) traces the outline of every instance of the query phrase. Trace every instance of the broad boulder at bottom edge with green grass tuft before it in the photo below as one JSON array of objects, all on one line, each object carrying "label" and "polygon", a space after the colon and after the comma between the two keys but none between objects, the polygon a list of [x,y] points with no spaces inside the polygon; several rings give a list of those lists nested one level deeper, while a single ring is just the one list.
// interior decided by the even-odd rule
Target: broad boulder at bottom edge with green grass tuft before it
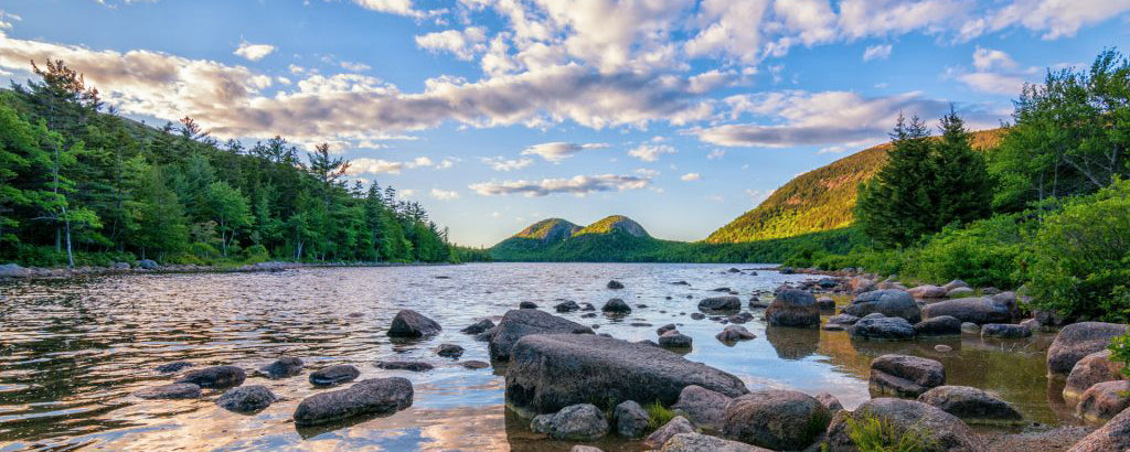
[{"label": "broad boulder at bottom edge with green grass tuft before it", "polygon": [[[854,411],[840,411],[828,426],[828,449],[833,452],[858,451],[850,436],[849,425],[864,419],[881,419],[890,427],[892,436],[902,437],[907,432],[916,432],[932,447],[930,452],[982,452],[988,451],[984,441],[968,425],[956,416],[914,400],[871,399]],[[892,449],[894,450],[894,449]]]}]

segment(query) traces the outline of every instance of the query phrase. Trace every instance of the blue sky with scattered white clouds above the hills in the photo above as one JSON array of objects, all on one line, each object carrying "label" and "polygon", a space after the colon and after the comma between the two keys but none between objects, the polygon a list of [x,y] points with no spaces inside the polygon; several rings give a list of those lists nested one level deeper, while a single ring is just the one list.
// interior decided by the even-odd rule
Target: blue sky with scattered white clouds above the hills
[{"label": "blue sky with scattered white clouds above the hills", "polygon": [[62,59],[149,124],[328,142],[471,246],[614,214],[702,240],[899,113],[998,127],[1128,43],[1130,0],[0,1],[0,82]]}]

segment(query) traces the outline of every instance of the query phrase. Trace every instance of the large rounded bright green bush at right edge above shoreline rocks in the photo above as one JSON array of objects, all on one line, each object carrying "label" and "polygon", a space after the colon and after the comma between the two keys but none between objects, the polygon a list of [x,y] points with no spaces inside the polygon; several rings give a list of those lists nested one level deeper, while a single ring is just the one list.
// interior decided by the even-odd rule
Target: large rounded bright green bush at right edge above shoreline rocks
[{"label": "large rounded bright green bush at right edge above shoreline rocks", "polygon": [[1033,305],[1080,319],[1130,320],[1130,181],[1069,200],[1032,250]]}]

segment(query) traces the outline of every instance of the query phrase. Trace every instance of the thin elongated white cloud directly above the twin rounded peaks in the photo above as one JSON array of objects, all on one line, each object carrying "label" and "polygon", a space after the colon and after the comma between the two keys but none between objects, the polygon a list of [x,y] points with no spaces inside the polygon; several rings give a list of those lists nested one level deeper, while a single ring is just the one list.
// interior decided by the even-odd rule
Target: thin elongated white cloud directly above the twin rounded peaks
[{"label": "thin elongated white cloud directly above the twin rounded peaks", "polygon": [[601,174],[573,176],[568,179],[542,179],[540,181],[483,182],[469,188],[481,195],[522,194],[528,198],[557,193],[585,195],[593,192],[638,190],[651,183],[647,177]]}]

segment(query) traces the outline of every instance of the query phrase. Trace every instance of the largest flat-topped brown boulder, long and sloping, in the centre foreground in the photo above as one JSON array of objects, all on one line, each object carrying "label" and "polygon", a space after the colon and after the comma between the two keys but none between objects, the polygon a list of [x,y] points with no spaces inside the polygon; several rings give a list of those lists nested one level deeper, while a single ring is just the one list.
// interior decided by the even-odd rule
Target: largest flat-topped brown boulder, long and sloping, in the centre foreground
[{"label": "largest flat-topped brown boulder, long and sloping, in the centre foreground", "polygon": [[729,397],[747,392],[737,376],[662,348],[594,334],[533,334],[514,346],[506,400],[536,412],[591,400],[670,406],[690,384]]}]

